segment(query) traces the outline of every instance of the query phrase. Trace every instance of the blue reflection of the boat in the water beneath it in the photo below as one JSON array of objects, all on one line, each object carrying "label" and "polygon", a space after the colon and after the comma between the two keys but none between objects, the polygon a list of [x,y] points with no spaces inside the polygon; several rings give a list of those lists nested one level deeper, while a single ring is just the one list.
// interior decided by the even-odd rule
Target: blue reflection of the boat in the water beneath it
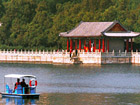
[{"label": "blue reflection of the boat in the water beneath it", "polygon": [[2,98],[5,105],[34,105],[39,99]]}]

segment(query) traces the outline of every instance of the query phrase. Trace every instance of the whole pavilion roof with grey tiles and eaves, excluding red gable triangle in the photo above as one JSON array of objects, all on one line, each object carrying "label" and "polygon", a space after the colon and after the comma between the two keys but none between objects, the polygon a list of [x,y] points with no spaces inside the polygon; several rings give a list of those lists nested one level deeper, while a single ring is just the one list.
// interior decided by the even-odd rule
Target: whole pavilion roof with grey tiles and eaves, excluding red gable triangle
[{"label": "whole pavilion roof with grey tiles and eaves, excluding red gable triangle", "polygon": [[[125,31],[109,33],[108,32],[109,29],[111,29],[117,23]],[[59,36],[62,37],[99,37],[102,35],[108,37],[136,37],[140,35],[140,33],[128,31],[118,21],[114,21],[114,22],[81,22],[74,29],[59,34]]]}]

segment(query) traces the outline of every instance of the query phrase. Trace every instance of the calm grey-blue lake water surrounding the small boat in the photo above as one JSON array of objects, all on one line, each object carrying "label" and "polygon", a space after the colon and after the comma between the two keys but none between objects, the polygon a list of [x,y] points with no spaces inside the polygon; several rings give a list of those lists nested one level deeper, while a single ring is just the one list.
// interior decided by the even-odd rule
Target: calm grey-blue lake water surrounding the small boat
[{"label": "calm grey-blue lake water surrounding the small boat", "polygon": [[38,100],[0,99],[0,104],[137,105],[140,104],[140,65],[0,64],[0,91],[4,75],[37,76]]}]

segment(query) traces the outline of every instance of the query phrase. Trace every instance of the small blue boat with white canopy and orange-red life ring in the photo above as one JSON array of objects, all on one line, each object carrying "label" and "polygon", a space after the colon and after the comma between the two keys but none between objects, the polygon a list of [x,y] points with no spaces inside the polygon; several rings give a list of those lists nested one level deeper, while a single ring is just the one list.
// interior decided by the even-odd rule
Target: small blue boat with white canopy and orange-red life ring
[{"label": "small blue boat with white canopy and orange-red life ring", "polygon": [[[7,78],[10,79],[10,83],[7,82]],[[24,79],[28,81],[26,87],[22,87],[18,84],[15,87],[13,81],[15,79]],[[37,79],[34,75],[20,75],[20,74],[8,74],[4,76],[4,92],[1,92],[2,97],[16,97],[16,98],[39,98],[39,93],[36,93]]]}]

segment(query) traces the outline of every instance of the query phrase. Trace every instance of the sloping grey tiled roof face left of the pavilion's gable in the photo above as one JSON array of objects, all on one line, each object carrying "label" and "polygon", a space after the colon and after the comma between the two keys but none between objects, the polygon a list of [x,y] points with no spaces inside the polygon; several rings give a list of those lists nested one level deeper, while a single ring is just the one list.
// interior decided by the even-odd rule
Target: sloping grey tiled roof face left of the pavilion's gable
[{"label": "sloping grey tiled roof face left of the pavilion's gable", "polygon": [[113,22],[81,22],[76,28],[69,32],[62,32],[63,37],[92,37],[100,36],[101,32],[111,26]]}]

